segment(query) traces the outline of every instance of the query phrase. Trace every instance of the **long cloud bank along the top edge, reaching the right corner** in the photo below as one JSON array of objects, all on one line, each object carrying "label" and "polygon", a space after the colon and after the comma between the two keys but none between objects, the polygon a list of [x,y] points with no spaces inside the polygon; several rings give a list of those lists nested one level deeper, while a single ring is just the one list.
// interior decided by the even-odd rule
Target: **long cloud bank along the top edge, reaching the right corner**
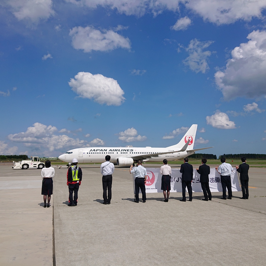
[{"label": "long cloud bank along the top edge, reaching the right corner", "polygon": [[185,5],[189,11],[200,15],[204,20],[220,24],[230,24],[237,20],[249,21],[252,18],[263,18],[265,0],[66,0],[96,8],[98,5],[126,15],[143,16],[152,13],[154,16],[165,10],[177,11]]}]

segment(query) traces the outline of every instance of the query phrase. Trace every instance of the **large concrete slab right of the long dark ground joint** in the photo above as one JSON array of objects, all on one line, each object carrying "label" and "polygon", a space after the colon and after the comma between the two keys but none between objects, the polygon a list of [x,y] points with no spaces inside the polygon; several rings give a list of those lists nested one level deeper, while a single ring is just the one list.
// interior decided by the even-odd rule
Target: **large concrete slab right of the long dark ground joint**
[{"label": "large concrete slab right of the long dark ground joint", "polygon": [[[134,203],[128,169],[115,169],[111,204],[103,205],[99,169],[82,171],[76,207],[67,206],[66,171],[56,173],[57,266],[265,265],[266,217],[244,209],[244,200],[222,202],[222,193],[213,193],[204,202],[193,193],[192,202],[180,202],[181,193],[170,193],[165,203],[162,193],[152,193],[146,203]],[[240,206],[231,206],[234,201]]]}]

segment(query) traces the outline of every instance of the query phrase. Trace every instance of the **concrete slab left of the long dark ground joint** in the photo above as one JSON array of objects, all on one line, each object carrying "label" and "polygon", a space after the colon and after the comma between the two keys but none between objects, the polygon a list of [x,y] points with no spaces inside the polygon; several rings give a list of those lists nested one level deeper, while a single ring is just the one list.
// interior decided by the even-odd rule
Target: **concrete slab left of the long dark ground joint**
[{"label": "concrete slab left of the long dark ground joint", "polygon": [[[13,171],[14,175],[27,172]],[[0,193],[0,265],[53,265],[53,207],[43,208],[41,177],[1,175]]]}]

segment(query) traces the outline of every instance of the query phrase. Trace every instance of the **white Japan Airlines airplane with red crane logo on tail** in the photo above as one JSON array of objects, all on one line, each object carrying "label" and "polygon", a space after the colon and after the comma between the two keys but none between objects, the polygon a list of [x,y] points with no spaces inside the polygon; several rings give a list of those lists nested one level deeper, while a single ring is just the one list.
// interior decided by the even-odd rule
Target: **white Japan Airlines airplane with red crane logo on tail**
[{"label": "white Japan Airlines airplane with red crane logo on tail", "polygon": [[135,147],[87,147],[77,148],[67,151],[58,158],[61,161],[71,162],[73,158],[77,158],[79,163],[103,163],[105,156],[111,156],[111,162],[114,165],[134,165],[138,160],[142,162],[162,162],[164,159],[168,161],[185,158],[208,148],[193,149],[197,124],[193,124],[179,143],[166,148],[135,148]]}]

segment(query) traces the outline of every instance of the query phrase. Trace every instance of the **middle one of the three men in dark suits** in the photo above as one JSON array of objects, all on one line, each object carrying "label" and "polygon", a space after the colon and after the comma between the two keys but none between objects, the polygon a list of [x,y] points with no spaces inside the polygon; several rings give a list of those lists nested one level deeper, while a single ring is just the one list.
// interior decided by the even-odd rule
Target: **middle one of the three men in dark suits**
[{"label": "middle one of the three men in dark suits", "polygon": [[209,174],[210,174],[210,167],[209,165],[206,165],[207,159],[203,158],[201,160],[201,166],[199,168],[196,168],[197,172],[200,174],[200,182],[201,182],[201,188],[204,195],[204,201],[211,200],[211,191],[209,187]]}]

